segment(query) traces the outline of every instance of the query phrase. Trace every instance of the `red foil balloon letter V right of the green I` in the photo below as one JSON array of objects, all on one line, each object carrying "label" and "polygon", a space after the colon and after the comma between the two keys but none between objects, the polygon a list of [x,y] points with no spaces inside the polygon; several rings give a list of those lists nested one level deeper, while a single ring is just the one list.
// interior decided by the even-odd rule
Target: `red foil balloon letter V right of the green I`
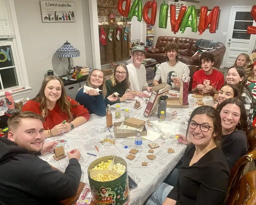
[{"label": "red foil balloon letter V right of the green I", "polygon": [[175,34],[176,32],[179,31],[179,27],[186,10],[187,10],[186,6],[181,6],[178,19],[176,20],[176,6],[173,4],[170,5],[170,22],[171,22],[172,32],[174,32]]}]

